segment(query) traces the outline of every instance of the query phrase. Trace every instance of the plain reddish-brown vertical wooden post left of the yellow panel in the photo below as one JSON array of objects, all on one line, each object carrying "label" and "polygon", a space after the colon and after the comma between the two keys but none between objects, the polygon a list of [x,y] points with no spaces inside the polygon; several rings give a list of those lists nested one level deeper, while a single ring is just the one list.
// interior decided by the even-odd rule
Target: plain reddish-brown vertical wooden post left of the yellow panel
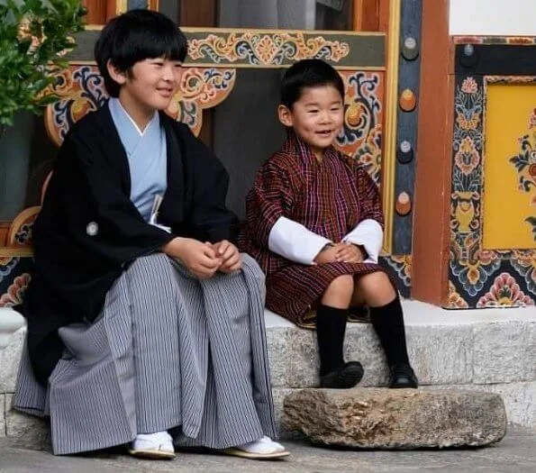
[{"label": "plain reddish-brown vertical wooden post left of the yellow panel", "polygon": [[412,296],[448,299],[450,180],[454,101],[449,0],[422,2],[419,158],[415,171]]}]

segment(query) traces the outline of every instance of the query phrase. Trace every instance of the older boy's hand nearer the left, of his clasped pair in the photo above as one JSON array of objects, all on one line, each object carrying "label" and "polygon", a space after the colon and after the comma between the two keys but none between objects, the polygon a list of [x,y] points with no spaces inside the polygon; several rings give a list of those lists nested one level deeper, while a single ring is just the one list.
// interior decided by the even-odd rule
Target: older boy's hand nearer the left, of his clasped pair
[{"label": "older boy's hand nearer the left, of his clasped pair", "polygon": [[222,258],[216,255],[210,245],[192,238],[174,238],[162,247],[164,253],[181,261],[196,277],[213,277],[222,265]]}]

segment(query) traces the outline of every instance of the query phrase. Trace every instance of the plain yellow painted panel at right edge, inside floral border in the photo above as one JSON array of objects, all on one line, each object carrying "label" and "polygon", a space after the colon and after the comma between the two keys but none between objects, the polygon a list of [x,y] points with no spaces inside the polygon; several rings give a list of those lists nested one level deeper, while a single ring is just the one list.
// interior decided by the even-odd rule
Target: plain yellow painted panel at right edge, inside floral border
[{"label": "plain yellow painted panel at right edge, inside floral border", "polygon": [[534,132],[529,126],[536,85],[488,84],[486,102],[482,245],[486,250],[536,248],[525,222],[536,216],[536,189],[519,188],[518,171],[510,162],[521,152],[520,138]]}]

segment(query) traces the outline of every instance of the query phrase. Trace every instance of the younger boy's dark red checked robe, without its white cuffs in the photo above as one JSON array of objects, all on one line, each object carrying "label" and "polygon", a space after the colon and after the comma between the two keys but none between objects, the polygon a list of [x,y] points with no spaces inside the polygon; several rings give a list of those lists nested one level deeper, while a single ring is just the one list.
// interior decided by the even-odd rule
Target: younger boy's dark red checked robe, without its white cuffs
[{"label": "younger boy's dark red checked robe, without its white cuffs", "polygon": [[374,262],[305,265],[268,248],[270,232],[281,217],[336,243],[365,220],[383,225],[376,184],[358,160],[332,147],[319,161],[304,141],[289,133],[283,149],[260,168],[246,209],[240,247],[267,275],[266,305],[301,327],[314,328],[312,309],[333,279],[384,271]]}]

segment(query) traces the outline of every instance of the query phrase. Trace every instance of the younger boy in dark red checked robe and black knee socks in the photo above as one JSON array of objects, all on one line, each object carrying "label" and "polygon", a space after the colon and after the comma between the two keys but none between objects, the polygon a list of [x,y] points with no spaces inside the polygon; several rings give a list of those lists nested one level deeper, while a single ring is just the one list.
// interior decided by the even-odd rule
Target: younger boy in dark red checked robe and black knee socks
[{"label": "younger boy in dark red checked robe and black knee socks", "polygon": [[316,308],[322,387],[353,387],[359,361],[344,362],[350,307],[368,305],[386,351],[389,387],[417,387],[402,306],[377,258],[383,215],[377,186],[355,159],[333,148],[344,115],[335,69],[306,59],[286,71],[279,121],[282,150],[259,170],[247,197],[242,250],[267,274],[267,306],[298,325]]}]

